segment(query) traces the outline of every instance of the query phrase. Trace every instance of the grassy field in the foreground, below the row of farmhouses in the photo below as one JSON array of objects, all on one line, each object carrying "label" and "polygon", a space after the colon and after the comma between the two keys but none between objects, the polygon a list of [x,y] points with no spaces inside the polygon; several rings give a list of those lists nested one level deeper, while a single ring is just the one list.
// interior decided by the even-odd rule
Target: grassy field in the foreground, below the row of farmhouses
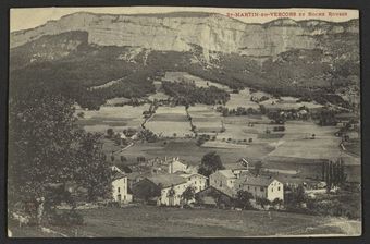
[{"label": "grassy field in the foreground, below the row of farmhouses", "polygon": [[[50,229],[66,236],[81,237],[243,237],[360,233],[358,221],[276,211],[137,206],[81,210],[81,213],[85,219],[84,225]],[[29,234],[20,231],[16,233],[18,236]]]}]

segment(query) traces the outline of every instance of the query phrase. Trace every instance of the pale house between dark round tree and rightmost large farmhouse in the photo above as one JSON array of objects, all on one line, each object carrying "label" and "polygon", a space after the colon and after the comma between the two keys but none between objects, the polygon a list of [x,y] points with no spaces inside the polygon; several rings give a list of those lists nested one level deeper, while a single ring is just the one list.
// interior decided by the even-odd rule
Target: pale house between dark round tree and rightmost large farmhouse
[{"label": "pale house between dark round tree and rightmost large farmhouse", "polygon": [[235,180],[240,176],[242,172],[247,171],[247,169],[218,170],[209,175],[209,185],[233,196],[236,193],[234,191]]}]

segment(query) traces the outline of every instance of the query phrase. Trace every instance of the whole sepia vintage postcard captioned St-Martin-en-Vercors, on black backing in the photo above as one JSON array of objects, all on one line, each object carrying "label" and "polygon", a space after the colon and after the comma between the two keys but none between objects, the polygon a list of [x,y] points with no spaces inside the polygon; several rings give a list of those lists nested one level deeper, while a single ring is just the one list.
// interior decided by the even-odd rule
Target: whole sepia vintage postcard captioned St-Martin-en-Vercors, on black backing
[{"label": "whole sepia vintage postcard captioned St-Martin-en-Vercors, on black backing", "polygon": [[8,235],[359,236],[359,13],[11,9]]}]

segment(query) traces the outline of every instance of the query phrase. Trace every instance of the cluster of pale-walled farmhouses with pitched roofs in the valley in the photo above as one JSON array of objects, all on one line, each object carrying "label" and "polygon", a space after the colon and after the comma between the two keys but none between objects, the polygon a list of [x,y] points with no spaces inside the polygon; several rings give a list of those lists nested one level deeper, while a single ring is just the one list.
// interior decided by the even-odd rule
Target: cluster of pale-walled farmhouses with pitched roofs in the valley
[{"label": "cluster of pale-walled farmhouses with pitched roofs in the valley", "polygon": [[[184,205],[184,192],[194,194],[186,204],[195,203],[206,206],[227,205],[237,197],[240,190],[249,192],[255,198],[270,202],[284,199],[283,183],[272,176],[255,175],[244,163],[236,169],[218,170],[209,178],[197,173],[196,168],[187,166],[178,158],[169,163],[160,162],[161,170],[152,162],[155,171],[134,180],[120,168],[113,167],[113,199],[119,204],[144,202],[158,206]],[[156,167],[157,166],[157,167]],[[163,170],[165,168],[165,170]]]}]

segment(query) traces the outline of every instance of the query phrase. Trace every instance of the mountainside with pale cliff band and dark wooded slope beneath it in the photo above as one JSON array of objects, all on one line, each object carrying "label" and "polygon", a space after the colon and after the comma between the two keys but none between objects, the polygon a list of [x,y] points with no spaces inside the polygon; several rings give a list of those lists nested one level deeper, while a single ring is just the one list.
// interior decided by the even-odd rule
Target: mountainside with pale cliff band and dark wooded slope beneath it
[{"label": "mountainside with pale cliff band and dark wooded slope beneath it", "polygon": [[73,86],[103,102],[146,96],[165,71],[185,71],[232,88],[316,99],[359,84],[358,29],[358,20],[246,24],[211,13],[75,13],[11,34],[11,88]]}]

